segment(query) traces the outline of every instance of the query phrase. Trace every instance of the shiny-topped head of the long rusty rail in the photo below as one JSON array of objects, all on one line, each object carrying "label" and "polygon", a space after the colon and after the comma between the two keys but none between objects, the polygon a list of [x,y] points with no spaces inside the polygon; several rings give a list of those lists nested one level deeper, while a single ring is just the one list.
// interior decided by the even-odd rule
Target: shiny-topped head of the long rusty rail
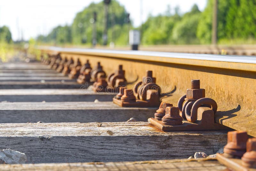
[{"label": "shiny-topped head of the long rusty rail", "polygon": [[157,63],[205,66],[256,72],[256,56],[211,55],[194,53],[173,53],[156,51],[121,51],[82,48],[38,47],[40,50],[56,53],[121,58]]}]

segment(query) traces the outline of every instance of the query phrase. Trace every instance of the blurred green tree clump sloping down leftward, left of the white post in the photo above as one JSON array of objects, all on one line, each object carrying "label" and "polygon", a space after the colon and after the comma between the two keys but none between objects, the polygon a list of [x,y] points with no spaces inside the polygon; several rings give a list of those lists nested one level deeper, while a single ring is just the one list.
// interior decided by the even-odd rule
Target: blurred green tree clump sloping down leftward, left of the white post
[{"label": "blurred green tree clump sloping down leftward, left of the white post", "polygon": [[[97,12],[97,20],[93,19],[93,12]],[[126,23],[127,12],[124,6],[112,0],[108,5],[108,43],[114,42],[119,45],[126,45],[128,42],[130,23]],[[49,42],[54,44],[92,44],[92,27],[96,22],[97,43],[102,43],[104,3],[91,3],[83,11],[76,14],[71,26],[55,27],[47,36],[37,37],[39,42]]]}]

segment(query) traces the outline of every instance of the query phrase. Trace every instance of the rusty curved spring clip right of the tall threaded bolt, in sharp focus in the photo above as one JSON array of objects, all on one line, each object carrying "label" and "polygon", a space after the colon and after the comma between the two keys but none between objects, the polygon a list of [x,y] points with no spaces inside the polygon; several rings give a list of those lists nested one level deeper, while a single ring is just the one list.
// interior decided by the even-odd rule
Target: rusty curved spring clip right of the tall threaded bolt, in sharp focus
[{"label": "rusty curved spring clip right of the tall threaded bolt, in sharp focus", "polygon": [[197,109],[202,105],[202,104],[208,104],[211,105],[211,108],[214,112],[214,114],[217,112],[217,103],[215,100],[211,98],[200,98],[196,100],[195,102],[189,102],[185,108],[185,115],[186,118],[189,122],[195,122],[197,120]]}]

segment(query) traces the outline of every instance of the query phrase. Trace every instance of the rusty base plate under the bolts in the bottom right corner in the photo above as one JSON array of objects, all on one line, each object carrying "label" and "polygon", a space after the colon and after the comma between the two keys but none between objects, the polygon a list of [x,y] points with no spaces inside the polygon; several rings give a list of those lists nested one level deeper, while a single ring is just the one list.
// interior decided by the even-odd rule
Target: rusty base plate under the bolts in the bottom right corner
[{"label": "rusty base plate under the bolts in the bottom right corner", "polygon": [[217,153],[217,160],[234,171],[256,171],[255,168],[248,168],[242,165],[241,159],[226,158],[223,154]]}]

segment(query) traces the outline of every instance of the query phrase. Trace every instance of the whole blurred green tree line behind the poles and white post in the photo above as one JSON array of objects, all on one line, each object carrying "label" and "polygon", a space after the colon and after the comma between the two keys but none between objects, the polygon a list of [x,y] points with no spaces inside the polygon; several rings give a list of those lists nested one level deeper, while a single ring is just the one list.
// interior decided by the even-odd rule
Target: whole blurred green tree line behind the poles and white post
[{"label": "whole blurred green tree line behind the poles and white post", "polygon": [[[139,28],[141,44],[209,44],[212,36],[214,0],[208,0],[203,12],[194,5],[190,12],[180,14],[179,7],[171,11],[170,5],[163,14],[148,16]],[[47,36],[37,41],[61,44],[92,45],[93,12],[97,12],[97,44],[102,44],[104,29],[104,3],[92,3],[78,12],[73,23],[55,27]],[[128,32],[133,29],[127,23],[124,6],[112,0],[108,6],[108,43],[128,44]],[[218,43],[255,43],[256,0],[218,1]]]}]

